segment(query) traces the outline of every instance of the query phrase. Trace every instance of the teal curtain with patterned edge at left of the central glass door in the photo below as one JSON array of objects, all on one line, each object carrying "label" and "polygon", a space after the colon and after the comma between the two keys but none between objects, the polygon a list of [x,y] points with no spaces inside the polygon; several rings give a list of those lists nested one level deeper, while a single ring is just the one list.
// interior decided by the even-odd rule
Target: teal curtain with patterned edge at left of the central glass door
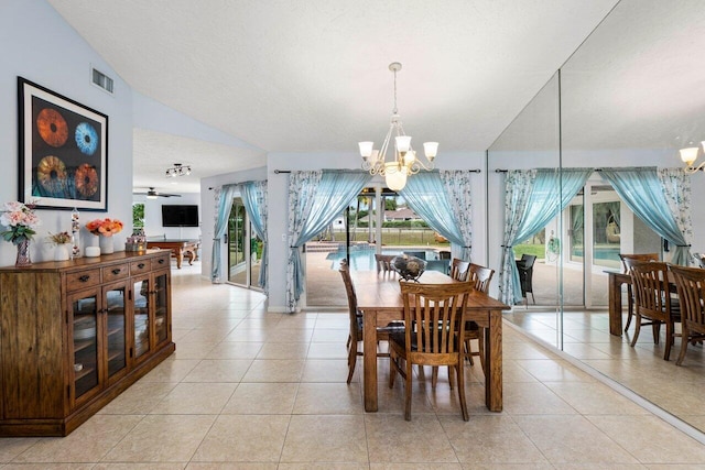
[{"label": "teal curtain with patterned edge at left of the central glass door", "polygon": [[289,181],[289,262],[286,263],[288,311],[296,311],[304,291],[304,266],[300,249],[326,228],[369,183],[366,172],[293,172]]}]

